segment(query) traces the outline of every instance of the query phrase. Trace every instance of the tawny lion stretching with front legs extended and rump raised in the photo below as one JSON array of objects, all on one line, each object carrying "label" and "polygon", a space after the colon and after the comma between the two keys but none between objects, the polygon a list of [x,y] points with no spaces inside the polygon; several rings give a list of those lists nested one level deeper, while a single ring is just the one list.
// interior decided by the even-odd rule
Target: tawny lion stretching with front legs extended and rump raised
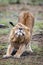
[{"label": "tawny lion stretching with front legs extended and rump raised", "polygon": [[[12,28],[10,32],[10,44],[8,46],[6,55],[3,56],[4,58],[10,57],[14,49],[17,50],[17,52],[14,54],[14,58],[21,57],[23,52],[26,51],[26,46],[29,44],[31,40],[33,26],[33,15],[27,11],[21,12],[18,18],[18,23]],[[30,45],[29,49],[32,52]]]}]

